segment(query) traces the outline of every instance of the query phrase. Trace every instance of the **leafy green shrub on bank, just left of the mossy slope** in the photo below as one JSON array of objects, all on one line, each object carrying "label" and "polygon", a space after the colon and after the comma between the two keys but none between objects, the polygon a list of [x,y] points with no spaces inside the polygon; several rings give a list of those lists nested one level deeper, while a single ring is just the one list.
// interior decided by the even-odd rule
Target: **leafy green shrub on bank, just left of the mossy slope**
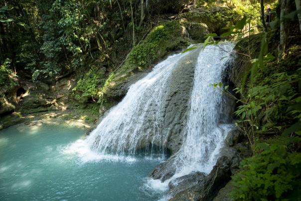
[{"label": "leafy green shrub on bank, just left of the mossy slope", "polygon": [[75,99],[80,100],[84,97],[98,98],[98,84],[104,75],[101,71],[89,70],[82,79],[79,79],[76,87],[72,89]]}]

